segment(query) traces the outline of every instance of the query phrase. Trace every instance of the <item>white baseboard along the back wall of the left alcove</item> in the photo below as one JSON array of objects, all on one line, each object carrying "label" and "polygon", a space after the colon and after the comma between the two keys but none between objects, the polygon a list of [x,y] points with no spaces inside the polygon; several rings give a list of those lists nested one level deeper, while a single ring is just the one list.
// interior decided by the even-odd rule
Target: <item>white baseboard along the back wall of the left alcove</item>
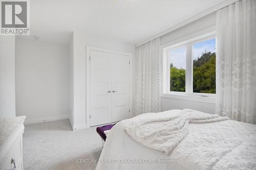
[{"label": "white baseboard along the back wall of the left alcove", "polygon": [[51,122],[51,121],[55,121],[55,120],[62,120],[62,119],[68,119],[68,118],[69,118],[68,114],[61,114],[61,115],[49,116],[49,117],[28,118],[28,119],[25,119],[24,124]]}]

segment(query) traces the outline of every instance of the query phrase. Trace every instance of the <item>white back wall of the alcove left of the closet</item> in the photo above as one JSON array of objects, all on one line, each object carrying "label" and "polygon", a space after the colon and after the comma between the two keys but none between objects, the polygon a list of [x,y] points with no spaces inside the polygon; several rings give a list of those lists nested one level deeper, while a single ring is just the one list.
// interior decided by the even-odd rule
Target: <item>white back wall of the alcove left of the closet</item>
[{"label": "white back wall of the alcove left of the closet", "polygon": [[16,38],[16,115],[25,123],[69,118],[69,46]]}]

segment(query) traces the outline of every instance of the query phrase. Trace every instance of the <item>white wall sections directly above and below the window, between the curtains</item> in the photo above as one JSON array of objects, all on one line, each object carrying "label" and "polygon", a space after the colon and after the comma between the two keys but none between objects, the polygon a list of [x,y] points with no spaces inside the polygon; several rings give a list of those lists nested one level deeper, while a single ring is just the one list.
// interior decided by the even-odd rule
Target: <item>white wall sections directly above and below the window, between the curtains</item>
[{"label": "white wall sections directly above and below the window, between the curtains", "polygon": [[[198,36],[195,33],[205,30],[207,28],[212,28],[214,26],[216,26],[215,12],[209,15],[206,15],[194,22],[189,23],[186,26],[183,26],[173,32],[170,32],[162,36],[160,38],[160,45],[164,46],[164,44],[175,42],[188,35],[190,36],[190,38],[195,38],[193,36]],[[176,43],[178,43],[178,41]],[[172,44],[169,44],[169,45],[172,45]],[[188,100],[172,99],[172,98],[166,98],[166,97],[161,98],[162,111],[170,110],[170,109],[185,109],[185,108],[200,110],[207,113],[215,113],[215,103],[188,101]]]}]

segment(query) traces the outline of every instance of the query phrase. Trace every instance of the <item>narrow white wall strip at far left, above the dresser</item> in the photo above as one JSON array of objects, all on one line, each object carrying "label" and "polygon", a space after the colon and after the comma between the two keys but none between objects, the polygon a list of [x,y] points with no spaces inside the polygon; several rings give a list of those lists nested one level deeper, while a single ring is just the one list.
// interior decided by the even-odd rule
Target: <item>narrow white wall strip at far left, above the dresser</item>
[{"label": "narrow white wall strip at far left, above the dresser", "polygon": [[15,116],[15,36],[0,36],[0,118]]}]

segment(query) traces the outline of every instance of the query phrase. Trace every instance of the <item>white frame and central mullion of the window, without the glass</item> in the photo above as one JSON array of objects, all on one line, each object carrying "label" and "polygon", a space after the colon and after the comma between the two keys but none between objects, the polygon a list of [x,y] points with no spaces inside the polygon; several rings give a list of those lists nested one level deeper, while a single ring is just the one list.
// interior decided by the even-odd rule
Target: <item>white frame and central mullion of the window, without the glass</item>
[{"label": "white frame and central mullion of the window, without the glass", "polygon": [[[197,36],[196,38],[190,38],[182,42],[177,42],[173,45],[163,47],[163,94],[174,94],[174,95],[189,95],[189,96],[200,96],[216,98],[216,94],[212,93],[198,93],[193,92],[193,44],[207,41],[210,39],[217,39],[216,33],[211,32],[205,35]],[[217,42],[217,41],[216,41]],[[180,47],[186,48],[186,68],[185,68],[185,92],[181,91],[170,91],[170,71],[169,71],[169,52],[170,50],[177,49]],[[217,48],[217,44],[215,45]],[[163,95],[166,96],[166,95]]]}]

